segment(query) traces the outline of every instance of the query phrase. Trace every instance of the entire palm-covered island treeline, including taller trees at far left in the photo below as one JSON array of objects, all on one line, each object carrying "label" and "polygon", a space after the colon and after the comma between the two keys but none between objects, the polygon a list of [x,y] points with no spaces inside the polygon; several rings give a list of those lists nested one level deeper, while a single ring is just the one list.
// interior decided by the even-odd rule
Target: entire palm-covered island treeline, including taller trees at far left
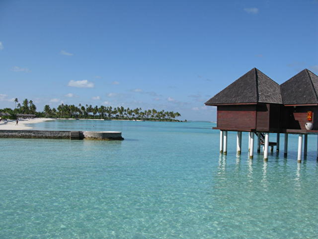
[{"label": "entire palm-covered island treeline, including taller trees at far left", "polygon": [[43,112],[37,112],[37,107],[32,100],[24,99],[22,104],[14,99],[14,109],[0,109],[2,119],[16,119],[20,114],[34,115],[39,118],[64,118],[64,119],[126,119],[126,120],[156,120],[156,121],[181,121],[178,112],[158,111],[156,109],[142,110],[124,107],[92,106],[92,105],[67,105],[61,104],[57,108],[45,105]]}]

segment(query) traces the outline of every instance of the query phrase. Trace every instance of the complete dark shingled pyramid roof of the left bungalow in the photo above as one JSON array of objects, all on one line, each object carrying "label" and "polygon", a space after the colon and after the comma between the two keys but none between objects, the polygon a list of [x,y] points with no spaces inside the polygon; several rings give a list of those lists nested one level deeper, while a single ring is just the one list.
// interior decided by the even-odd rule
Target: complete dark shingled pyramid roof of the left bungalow
[{"label": "complete dark shingled pyramid roof of the left bungalow", "polygon": [[205,105],[248,103],[283,104],[279,85],[256,68],[216,94]]}]

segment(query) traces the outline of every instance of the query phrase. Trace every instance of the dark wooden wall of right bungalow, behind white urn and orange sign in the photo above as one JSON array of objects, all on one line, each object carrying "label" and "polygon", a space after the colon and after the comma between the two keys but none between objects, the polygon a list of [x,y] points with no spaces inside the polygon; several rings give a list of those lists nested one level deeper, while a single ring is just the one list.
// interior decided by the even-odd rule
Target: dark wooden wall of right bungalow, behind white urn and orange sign
[{"label": "dark wooden wall of right bungalow, behind white urn and orange sign", "polygon": [[307,112],[313,112],[313,123],[315,130],[318,129],[318,106],[293,106],[284,107],[284,119],[281,120],[282,128],[303,129],[306,131],[305,124],[307,121]]}]

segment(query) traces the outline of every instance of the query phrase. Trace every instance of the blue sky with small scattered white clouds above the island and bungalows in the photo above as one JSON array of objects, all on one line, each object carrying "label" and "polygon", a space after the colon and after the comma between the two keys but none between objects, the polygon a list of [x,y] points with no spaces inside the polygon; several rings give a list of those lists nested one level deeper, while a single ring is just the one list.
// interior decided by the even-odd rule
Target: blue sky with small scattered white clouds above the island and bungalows
[{"label": "blue sky with small scattered white clouds above the island and bungalows", "polygon": [[178,111],[258,68],[318,74],[318,0],[0,0],[0,108],[12,98]]}]

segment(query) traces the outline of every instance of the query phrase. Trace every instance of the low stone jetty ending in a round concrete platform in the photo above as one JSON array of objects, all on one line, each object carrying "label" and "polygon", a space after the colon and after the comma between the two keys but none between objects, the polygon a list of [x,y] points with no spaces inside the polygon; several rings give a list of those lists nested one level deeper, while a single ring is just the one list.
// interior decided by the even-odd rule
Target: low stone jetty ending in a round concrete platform
[{"label": "low stone jetty ending in a round concrete platform", "polygon": [[0,130],[0,138],[123,140],[115,131]]}]

